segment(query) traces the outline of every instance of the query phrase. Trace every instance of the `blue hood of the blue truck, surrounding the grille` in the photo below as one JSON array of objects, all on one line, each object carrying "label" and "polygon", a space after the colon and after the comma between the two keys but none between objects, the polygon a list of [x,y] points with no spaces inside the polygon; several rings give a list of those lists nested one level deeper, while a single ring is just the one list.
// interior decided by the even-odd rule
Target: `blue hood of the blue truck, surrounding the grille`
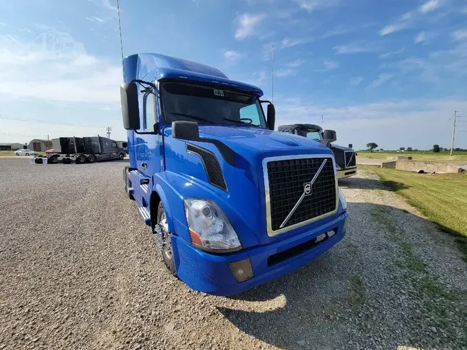
[{"label": "blue hood of the blue truck, surrounding the grille", "polygon": [[[209,199],[219,205],[244,248],[272,243],[322,224],[323,221],[316,221],[274,237],[268,235],[263,163],[265,158],[271,157],[330,156],[331,149],[302,136],[253,127],[202,125],[199,134],[201,138],[220,140],[230,147],[235,153],[235,166],[228,164],[212,143],[169,138],[166,142],[166,168],[176,176],[183,176],[180,197]],[[165,136],[170,135],[171,130],[165,129]],[[187,151],[190,144],[216,156],[220,166],[216,176],[223,176],[225,189],[210,181],[206,168],[211,167],[212,162],[203,160],[196,152]],[[330,216],[324,221],[335,217]]]}]

